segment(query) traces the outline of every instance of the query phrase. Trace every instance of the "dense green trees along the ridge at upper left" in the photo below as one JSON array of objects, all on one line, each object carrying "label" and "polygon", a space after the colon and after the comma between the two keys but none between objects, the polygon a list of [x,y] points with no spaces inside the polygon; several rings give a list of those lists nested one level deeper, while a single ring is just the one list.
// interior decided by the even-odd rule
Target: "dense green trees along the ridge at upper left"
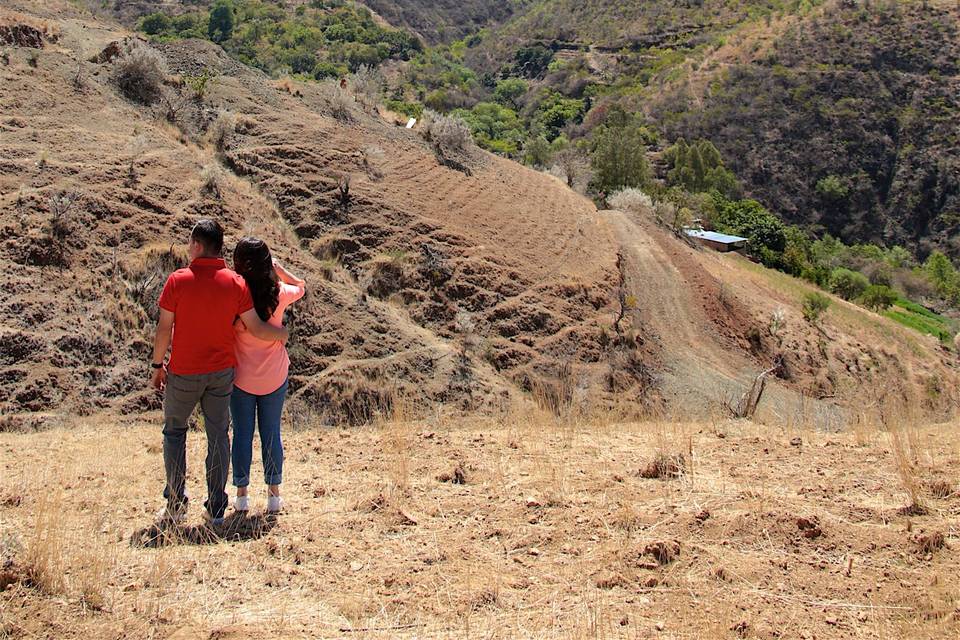
[{"label": "dense green trees along the ridge at upper left", "polygon": [[369,10],[338,0],[312,0],[292,12],[266,0],[216,0],[209,11],[150,14],[139,28],[158,40],[206,38],[270,74],[315,79],[405,60],[423,49],[413,34],[381,27]]}]

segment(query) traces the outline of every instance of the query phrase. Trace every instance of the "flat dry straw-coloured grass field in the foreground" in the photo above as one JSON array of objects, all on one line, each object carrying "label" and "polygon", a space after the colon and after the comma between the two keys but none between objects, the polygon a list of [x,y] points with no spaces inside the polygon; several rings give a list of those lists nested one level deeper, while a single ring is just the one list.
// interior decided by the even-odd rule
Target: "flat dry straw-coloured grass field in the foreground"
[{"label": "flat dry straw-coloured grass field in the foreground", "polygon": [[0,434],[0,637],[960,631],[956,423],[305,427],[286,436],[285,513],[253,487],[251,515],[217,530],[194,432],[190,519],[165,534],[160,445],[144,418]]}]

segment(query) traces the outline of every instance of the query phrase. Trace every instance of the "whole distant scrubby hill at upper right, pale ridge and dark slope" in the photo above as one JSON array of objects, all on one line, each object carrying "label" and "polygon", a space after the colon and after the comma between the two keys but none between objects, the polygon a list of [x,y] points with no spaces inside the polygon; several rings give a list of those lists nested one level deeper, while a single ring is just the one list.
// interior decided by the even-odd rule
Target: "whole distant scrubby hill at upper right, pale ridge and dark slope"
[{"label": "whole distant scrubby hill at upper right, pale ridge and dark slope", "polygon": [[462,59],[481,79],[517,75],[533,48],[552,64],[533,67],[528,110],[545,89],[629,105],[665,144],[711,140],[791,223],[956,256],[958,23],[956,3],[919,0],[548,0],[468,39]]}]

